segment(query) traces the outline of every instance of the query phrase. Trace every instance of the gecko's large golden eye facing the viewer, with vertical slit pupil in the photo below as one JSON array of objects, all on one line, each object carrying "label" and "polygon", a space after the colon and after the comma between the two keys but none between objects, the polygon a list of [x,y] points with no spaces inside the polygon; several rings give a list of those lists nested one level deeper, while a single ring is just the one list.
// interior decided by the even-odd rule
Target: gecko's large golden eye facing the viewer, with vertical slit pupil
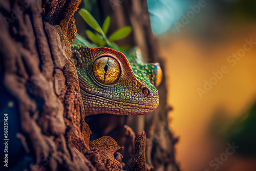
[{"label": "gecko's large golden eye facing the viewer, with vertical slit pupil", "polygon": [[93,75],[102,84],[112,84],[120,75],[120,66],[116,59],[103,56],[93,63]]}]

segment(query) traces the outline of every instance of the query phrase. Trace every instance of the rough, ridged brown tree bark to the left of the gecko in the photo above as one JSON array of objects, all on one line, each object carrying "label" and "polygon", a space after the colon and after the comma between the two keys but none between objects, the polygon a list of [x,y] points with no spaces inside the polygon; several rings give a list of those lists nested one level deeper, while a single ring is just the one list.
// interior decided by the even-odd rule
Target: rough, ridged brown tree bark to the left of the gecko
[{"label": "rough, ridged brown tree bark to the left of the gecko", "polygon": [[[90,167],[83,155],[89,151],[90,130],[70,60],[76,34],[72,16],[79,3],[1,1],[1,84],[17,101],[18,113],[9,114],[9,120],[10,115],[19,115],[15,126],[20,126],[18,137],[26,149],[19,156],[24,158],[23,169]],[[11,159],[17,157],[10,154]]]}]

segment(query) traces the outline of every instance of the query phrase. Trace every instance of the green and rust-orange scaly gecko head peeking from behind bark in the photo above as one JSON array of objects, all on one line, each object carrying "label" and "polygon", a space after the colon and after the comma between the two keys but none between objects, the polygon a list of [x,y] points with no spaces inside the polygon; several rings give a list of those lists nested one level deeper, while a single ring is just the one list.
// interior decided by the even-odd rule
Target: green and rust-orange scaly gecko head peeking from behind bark
[{"label": "green and rust-orange scaly gecko head peeking from behind bark", "polygon": [[[159,103],[161,69],[132,64],[121,53],[109,48],[73,47],[72,58],[79,77],[86,116],[94,114],[143,115]],[[144,68],[144,69],[142,69]]]}]

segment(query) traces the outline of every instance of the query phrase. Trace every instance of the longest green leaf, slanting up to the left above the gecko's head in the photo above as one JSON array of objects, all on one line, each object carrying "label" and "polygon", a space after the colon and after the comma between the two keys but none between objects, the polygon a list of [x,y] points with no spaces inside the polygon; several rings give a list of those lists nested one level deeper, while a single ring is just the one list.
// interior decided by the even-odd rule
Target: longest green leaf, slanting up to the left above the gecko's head
[{"label": "longest green leaf, slanting up to the left above the gecko's head", "polygon": [[100,34],[104,35],[104,32],[100,28],[99,24],[96,22],[94,17],[88,12],[86,9],[81,9],[79,11],[79,14],[82,16],[82,18],[86,21],[86,23],[91,26],[94,30],[99,32]]}]

